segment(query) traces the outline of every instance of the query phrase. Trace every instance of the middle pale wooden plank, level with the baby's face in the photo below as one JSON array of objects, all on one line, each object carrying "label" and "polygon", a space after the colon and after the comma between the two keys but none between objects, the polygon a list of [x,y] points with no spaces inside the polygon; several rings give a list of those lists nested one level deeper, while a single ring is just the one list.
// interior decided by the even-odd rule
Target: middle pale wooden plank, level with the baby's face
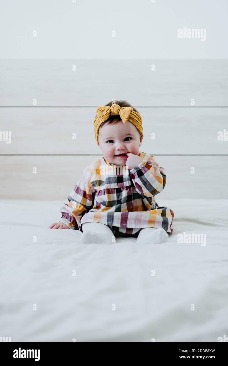
[{"label": "middle pale wooden plank, level with the baby's face", "polygon": [[[140,108],[141,151],[150,154],[227,154],[228,108]],[[100,154],[94,137],[95,108],[0,108],[0,154]],[[72,139],[72,134],[76,139]],[[155,139],[152,139],[152,133]]]}]

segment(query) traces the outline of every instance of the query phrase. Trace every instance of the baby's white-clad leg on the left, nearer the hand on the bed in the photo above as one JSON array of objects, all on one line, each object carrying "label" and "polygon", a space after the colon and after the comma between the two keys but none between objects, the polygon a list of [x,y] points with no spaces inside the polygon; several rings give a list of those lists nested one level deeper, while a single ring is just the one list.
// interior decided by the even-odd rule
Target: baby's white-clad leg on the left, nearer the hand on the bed
[{"label": "baby's white-clad leg on the left, nearer the hand on the bed", "polygon": [[114,238],[112,230],[105,224],[85,223],[82,224],[81,242],[83,244],[112,244]]}]

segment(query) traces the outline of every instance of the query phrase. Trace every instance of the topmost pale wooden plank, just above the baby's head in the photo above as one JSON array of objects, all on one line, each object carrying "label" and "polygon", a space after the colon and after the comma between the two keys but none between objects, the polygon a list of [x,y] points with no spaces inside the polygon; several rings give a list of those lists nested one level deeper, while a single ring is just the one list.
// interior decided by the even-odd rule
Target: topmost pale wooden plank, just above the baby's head
[{"label": "topmost pale wooden plank, just above the baby's head", "polygon": [[[76,71],[72,71],[76,65]],[[152,65],[155,70],[152,71]],[[228,60],[1,59],[1,106],[228,106]]]}]

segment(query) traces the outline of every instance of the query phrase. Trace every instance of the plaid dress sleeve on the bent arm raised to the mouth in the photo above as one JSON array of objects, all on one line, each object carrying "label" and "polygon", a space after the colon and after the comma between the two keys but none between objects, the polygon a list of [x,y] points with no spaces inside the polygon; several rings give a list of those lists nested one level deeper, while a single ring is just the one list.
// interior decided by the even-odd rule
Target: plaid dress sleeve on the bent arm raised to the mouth
[{"label": "plaid dress sleeve on the bent arm raised to the mouth", "polygon": [[137,167],[130,169],[135,189],[145,197],[160,193],[166,183],[164,168],[159,167],[153,156],[145,158]]}]

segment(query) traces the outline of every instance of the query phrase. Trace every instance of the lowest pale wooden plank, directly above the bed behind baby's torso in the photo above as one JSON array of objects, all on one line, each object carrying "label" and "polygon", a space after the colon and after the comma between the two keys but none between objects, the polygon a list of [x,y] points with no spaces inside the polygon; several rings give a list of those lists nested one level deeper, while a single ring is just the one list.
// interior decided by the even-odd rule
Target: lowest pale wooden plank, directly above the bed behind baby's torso
[{"label": "lowest pale wooden plank, directly above the bed behind baby's torso", "polygon": [[[67,203],[83,169],[98,157],[1,156],[0,199],[61,199]],[[156,196],[158,203],[159,198],[228,199],[227,157],[158,156],[156,160],[167,175],[164,191]]]}]

